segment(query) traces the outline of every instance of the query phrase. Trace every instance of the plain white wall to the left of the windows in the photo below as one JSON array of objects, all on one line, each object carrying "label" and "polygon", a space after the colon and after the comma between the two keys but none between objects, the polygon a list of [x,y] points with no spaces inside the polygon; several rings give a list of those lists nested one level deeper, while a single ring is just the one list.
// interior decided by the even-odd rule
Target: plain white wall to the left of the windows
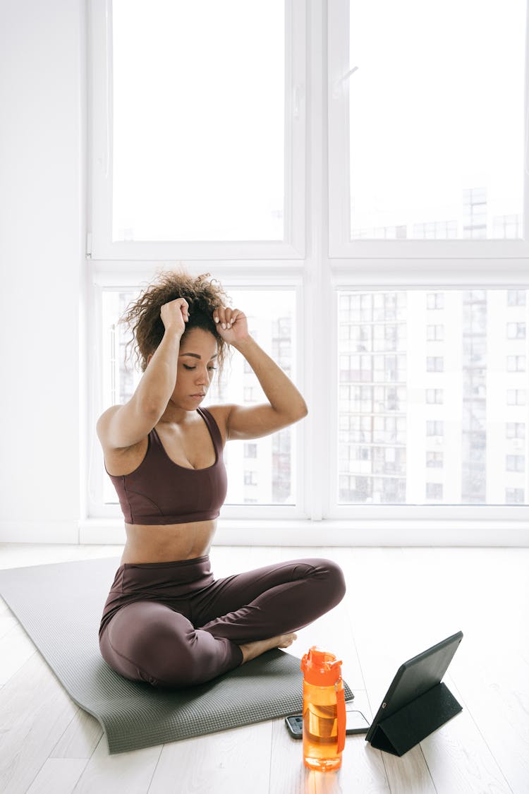
[{"label": "plain white wall to the left of the windows", "polygon": [[0,4],[0,541],[84,518],[85,4]]}]

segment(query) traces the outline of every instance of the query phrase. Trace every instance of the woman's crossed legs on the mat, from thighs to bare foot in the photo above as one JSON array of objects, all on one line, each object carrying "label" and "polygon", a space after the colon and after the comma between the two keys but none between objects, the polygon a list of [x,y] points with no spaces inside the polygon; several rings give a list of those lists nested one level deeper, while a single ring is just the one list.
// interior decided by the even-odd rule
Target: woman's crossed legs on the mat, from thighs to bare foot
[{"label": "woman's crossed legs on the mat, from thighs to bare foot", "polygon": [[132,680],[201,684],[288,645],[286,635],[335,607],[344,592],[343,573],[332,561],[267,565],[213,581],[190,593],[178,611],[150,600],[121,607],[102,634],[102,656]]}]

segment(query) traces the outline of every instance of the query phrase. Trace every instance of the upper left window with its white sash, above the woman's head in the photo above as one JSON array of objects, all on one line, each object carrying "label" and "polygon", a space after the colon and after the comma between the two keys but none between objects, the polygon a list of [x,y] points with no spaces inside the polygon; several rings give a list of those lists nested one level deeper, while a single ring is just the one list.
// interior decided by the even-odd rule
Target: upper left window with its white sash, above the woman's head
[{"label": "upper left window with its white sash, above the woman's head", "polygon": [[91,6],[95,41],[109,41],[94,73],[107,118],[94,135],[93,256],[178,260],[197,243],[217,259],[302,256],[303,4]]}]

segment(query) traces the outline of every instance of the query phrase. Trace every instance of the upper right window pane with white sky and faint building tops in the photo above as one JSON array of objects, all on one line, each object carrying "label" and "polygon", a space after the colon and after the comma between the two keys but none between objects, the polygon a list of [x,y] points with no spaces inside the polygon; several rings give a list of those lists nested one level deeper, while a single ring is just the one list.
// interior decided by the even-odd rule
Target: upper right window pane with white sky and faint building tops
[{"label": "upper right window pane with white sky and faint building tops", "polygon": [[525,0],[351,0],[351,237],[523,237]]}]

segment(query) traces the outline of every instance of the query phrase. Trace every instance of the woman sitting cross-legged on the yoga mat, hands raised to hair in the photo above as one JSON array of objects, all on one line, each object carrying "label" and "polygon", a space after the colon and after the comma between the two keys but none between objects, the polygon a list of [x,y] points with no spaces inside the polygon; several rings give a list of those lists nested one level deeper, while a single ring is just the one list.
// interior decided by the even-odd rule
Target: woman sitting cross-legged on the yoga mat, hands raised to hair
[{"label": "woman sitting cross-legged on the yoga mat, hands raised to hair", "polygon": [[[345,592],[339,567],[319,559],[213,578],[225,442],[274,433],[307,407],[208,275],[163,273],[129,307],[144,375],[97,426],[127,534],[103,611],[102,656],[117,673],[161,687],[200,684],[288,647]],[[250,364],[268,403],[200,407],[227,345]]]}]

